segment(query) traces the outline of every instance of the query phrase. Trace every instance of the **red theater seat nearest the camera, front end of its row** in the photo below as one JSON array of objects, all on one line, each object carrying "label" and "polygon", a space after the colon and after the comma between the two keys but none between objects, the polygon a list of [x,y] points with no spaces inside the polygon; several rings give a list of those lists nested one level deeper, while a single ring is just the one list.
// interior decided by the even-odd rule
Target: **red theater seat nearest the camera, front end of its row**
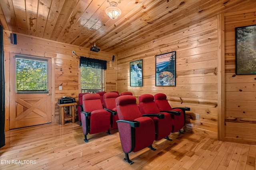
[{"label": "red theater seat nearest the camera, front end of its row", "polygon": [[126,162],[130,152],[137,152],[146,147],[152,147],[155,139],[154,121],[150,117],[142,117],[134,96],[120,96],[116,98],[116,109],[119,120],[118,131]]}]

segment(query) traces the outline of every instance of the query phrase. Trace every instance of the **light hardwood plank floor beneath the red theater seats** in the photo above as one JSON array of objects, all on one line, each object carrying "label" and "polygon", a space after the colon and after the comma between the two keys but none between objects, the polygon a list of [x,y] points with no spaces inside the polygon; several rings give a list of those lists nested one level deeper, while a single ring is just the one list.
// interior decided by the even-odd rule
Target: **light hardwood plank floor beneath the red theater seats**
[{"label": "light hardwood plank floor beneath the red theater seats", "polygon": [[173,141],[155,141],[156,151],[146,148],[131,152],[129,156],[134,164],[130,165],[123,160],[117,129],[110,131],[112,135],[88,135],[89,143],[85,143],[82,127],[77,123],[10,130],[5,133],[6,145],[0,149],[0,169],[256,169],[256,145],[222,142],[188,132],[170,134]]}]

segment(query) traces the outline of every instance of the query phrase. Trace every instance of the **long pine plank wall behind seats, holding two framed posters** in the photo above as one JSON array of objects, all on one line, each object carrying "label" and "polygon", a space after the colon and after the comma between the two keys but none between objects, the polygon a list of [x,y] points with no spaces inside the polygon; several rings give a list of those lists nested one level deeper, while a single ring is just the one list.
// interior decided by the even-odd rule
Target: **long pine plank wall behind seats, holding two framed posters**
[{"label": "long pine plank wall behind seats, holding two framed posters", "polygon": [[[172,107],[191,108],[186,112],[186,131],[217,139],[217,26],[214,17],[118,54],[118,91],[130,91],[137,98],[165,93]],[[155,86],[155,55],[171,51],[176,51],[176,86]],[[143,62],[143,87],[130,87],[129,62],[138,59]]]}]

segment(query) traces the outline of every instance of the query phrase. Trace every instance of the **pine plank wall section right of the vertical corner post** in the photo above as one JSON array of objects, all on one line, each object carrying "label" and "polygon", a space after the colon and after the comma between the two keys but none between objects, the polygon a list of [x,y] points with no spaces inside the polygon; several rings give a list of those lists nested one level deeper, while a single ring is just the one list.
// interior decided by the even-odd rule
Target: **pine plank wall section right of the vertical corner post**
[{"label": "pine plank wall section right of the vertical corner post", "polygon": [[225,140],[256,144],[256,75],[235,74],[235,27],[255,25],[256,9],[225,14]]}]

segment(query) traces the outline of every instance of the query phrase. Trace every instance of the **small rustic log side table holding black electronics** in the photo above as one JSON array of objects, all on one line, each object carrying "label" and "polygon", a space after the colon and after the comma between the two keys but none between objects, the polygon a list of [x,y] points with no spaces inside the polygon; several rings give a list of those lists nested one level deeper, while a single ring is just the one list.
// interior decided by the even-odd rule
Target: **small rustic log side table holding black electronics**
[{"label": "small rustic log side table holding black electronics", "polygon": [[[57,104],[59,106],[59,117],[60,117],[60,124],[65,125],[65,121],[71,120],[72,123],[75,123],[75,106],[77,103],[67,103],[67,104]],[[65,117],[64,107],[69,106],[69,114],[71,112],[71,117]]]}]

